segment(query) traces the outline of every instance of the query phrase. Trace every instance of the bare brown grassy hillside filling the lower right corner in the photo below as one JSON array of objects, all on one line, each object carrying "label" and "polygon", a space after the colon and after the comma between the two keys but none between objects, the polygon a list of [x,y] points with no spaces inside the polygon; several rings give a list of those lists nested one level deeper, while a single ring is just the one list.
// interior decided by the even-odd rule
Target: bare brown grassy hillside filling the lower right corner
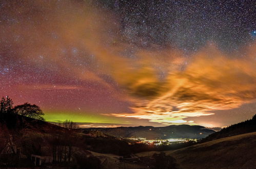
[{"label": "bare brown grassy hillside filling the lower right corner", "polygon": [[167,151],[181,168],[255,168],[256,132]]}]

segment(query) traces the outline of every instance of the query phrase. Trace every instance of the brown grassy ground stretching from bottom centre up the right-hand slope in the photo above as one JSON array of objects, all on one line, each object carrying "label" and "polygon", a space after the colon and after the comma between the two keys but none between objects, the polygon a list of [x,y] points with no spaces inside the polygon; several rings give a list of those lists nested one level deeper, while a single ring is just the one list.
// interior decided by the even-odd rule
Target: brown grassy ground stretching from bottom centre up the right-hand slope
[{"label": "brown grassy ground stretching from bottom centre up the right-hand slope", "polygon": [[[92,152],[103,168],[255,168],[256,132],[231,136],[164,152],[142,152],[130,158]],[[168,163],[169,166],[166,166]],[[157,167],[158,166],[158,167]]]}]

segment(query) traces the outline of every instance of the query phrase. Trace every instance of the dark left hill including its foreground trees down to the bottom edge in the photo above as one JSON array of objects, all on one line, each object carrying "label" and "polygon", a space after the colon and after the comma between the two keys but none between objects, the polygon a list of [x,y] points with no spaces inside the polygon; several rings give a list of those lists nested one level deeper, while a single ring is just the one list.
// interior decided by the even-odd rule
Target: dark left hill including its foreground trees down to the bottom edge
[{"label": "dark left hill including its foreground trees down to the bottom edge", "polygon": [[128,142],[101,132],[85,134],[80,129],[65,129],[21,115],[0,115],[0,167],[32,167],[31,155],[47,157],[50,164],[42,162],[42,165],[53,168],[86,166],[93,162],[98,166],[99,159],[88,150],[126,155],[132,149]]}]

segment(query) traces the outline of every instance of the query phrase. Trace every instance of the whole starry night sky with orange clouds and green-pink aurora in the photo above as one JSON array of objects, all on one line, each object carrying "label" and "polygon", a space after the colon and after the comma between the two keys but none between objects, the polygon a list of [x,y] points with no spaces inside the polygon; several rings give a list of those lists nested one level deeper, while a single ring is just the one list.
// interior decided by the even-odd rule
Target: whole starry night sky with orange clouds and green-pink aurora
[{"label": "whole starry night sky with orange clouds and green-pink aurora", "polygon": [[256,113],[256,2],[0,2],[0,96],[81,127]]}]

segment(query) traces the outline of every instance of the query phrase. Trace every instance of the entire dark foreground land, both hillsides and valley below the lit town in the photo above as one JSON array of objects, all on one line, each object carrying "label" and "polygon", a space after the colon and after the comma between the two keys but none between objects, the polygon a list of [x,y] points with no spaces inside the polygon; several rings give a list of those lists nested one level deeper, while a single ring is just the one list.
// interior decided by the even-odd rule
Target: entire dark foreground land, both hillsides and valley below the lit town
[{"label": "entire dark foreground land, both hillsides and valley below the lit town", "polygon": [[255,116],[199,142],[168,147],[131,144],[102,131],[63,128],[21,115],[0,118],[2,168],[256,168],[255,161]]}]

